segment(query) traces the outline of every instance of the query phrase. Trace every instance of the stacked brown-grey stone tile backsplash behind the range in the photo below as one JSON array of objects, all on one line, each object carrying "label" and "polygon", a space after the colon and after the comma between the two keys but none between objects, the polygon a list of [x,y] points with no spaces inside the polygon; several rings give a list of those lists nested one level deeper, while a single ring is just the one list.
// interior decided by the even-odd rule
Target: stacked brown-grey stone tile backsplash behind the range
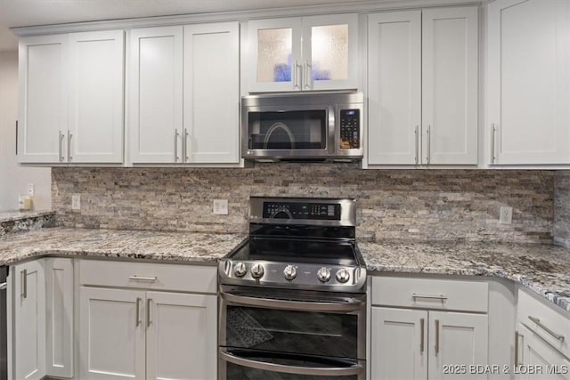
[{"label": "stacked brown-grey stone tile backsplash behind the range", "polygon": [[[52,201],[65,227],[245,233],[249,196],[348,197],[358,202],[359,239],[548,243],[554,182],[552,171],[362,170],[356,164],[54,167]],[[79,212],[71,210],[73,194],[81,196]],[[217,198],[229,200],[229,215],[212,214]],[[512,224],[499,224],[500,206],[513,207]]]}]

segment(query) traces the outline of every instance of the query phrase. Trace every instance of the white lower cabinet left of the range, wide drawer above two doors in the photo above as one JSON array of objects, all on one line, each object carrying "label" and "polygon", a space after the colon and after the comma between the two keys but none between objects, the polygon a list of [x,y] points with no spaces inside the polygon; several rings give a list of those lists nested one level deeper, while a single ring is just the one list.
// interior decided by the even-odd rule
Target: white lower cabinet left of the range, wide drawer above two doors
[{"label": "white lower cabinet left of the range, wide drawer above two doors", "polygon": [[[216,267],[127,263],[128,288],[110,288],[124,264],[80,264],[79,378],[216,379]],[[176,276],[212,277],[196,291],[214,294],[173,293]]]}]

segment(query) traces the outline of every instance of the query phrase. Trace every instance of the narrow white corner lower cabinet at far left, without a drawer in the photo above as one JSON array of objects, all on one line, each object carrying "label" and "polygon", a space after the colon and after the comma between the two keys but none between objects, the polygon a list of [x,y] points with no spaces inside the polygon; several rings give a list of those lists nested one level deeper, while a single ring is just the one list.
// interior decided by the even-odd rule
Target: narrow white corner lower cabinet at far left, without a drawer
[{"label": "narrow white corner lower cabinet at far left, without a drawer", "polygon": [[48,258],[13,265],[8,284],[10,378],[73,377],[72,260]]}]

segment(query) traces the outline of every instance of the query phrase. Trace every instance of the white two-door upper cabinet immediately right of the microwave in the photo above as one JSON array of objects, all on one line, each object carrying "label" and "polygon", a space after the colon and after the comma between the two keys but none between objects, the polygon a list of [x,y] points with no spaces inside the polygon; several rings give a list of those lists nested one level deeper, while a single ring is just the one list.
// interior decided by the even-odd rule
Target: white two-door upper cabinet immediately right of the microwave
[{"label": "white two-door upper cabinet immediately right of the microwave", "polygon": [[476,7],[369,16],[369,165],[477,164]]}]

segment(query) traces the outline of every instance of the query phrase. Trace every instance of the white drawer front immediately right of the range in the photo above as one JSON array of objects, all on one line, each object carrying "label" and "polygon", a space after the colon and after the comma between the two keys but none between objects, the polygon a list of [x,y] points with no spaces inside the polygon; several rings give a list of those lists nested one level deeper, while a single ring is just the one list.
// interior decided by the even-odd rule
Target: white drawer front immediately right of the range
[{"label": "white drawer front immediately right of the range", "polygon": [[372,304],[456,311],[488,310],[485,281],[372,277]]}]

